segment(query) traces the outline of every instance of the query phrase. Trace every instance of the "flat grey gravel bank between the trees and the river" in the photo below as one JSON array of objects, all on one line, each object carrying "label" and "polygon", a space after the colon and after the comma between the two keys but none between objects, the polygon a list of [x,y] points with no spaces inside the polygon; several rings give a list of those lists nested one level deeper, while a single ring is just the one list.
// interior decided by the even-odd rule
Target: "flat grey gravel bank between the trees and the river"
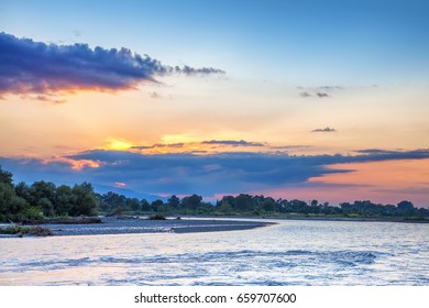
[{"label": "flat grey gravel bank between the trees and the river", "polygon": [[[0,238],[237,231],[274,224],[274,222],[268,220],[429,223],[429,220],[418,219],[344,216],[200,216],[180,219],[172,217],[165,220],[153,220],[148,219],[148,217],[139,216],[120,216],[85,219],[46,219],[42,222],[43,228],[37,226],[31,228],[20,227],[22,230],[16,229],[16,232],[12,232],[15,229],[13,227],[16,224],[1,224]],[[36,228],[36,230],[34,232],[29,231],[32,228]]]}]

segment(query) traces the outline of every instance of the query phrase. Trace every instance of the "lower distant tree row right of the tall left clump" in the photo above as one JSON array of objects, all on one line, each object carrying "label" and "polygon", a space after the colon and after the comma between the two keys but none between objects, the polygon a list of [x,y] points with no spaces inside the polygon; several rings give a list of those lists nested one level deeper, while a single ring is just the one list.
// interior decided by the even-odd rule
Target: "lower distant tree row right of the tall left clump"
[{"label": "lower distant tree row right of the tall left clump", "polygon": [[106,213],[119,215],[127,212],[160,212],[200,213],[200,215],[328,215],[328,216],[360,216],[360,217],[406,217],[429,218],[429,209],[416,208],[409,201],[400,201],[398,205],[380,205],[371,201],[342,202],[339,206],[330,206],[328,202],[311,200],[274,199],[272,197],[252,196],[241,194],[239,196],[224,196],[216,205],[202,201],[202,197],[191,195],[183,199],[173,195],[167,201],[154,200],[151,204],[138,198],[127,198],[123,195],[109,191],[98,195],[100,210]]}]

